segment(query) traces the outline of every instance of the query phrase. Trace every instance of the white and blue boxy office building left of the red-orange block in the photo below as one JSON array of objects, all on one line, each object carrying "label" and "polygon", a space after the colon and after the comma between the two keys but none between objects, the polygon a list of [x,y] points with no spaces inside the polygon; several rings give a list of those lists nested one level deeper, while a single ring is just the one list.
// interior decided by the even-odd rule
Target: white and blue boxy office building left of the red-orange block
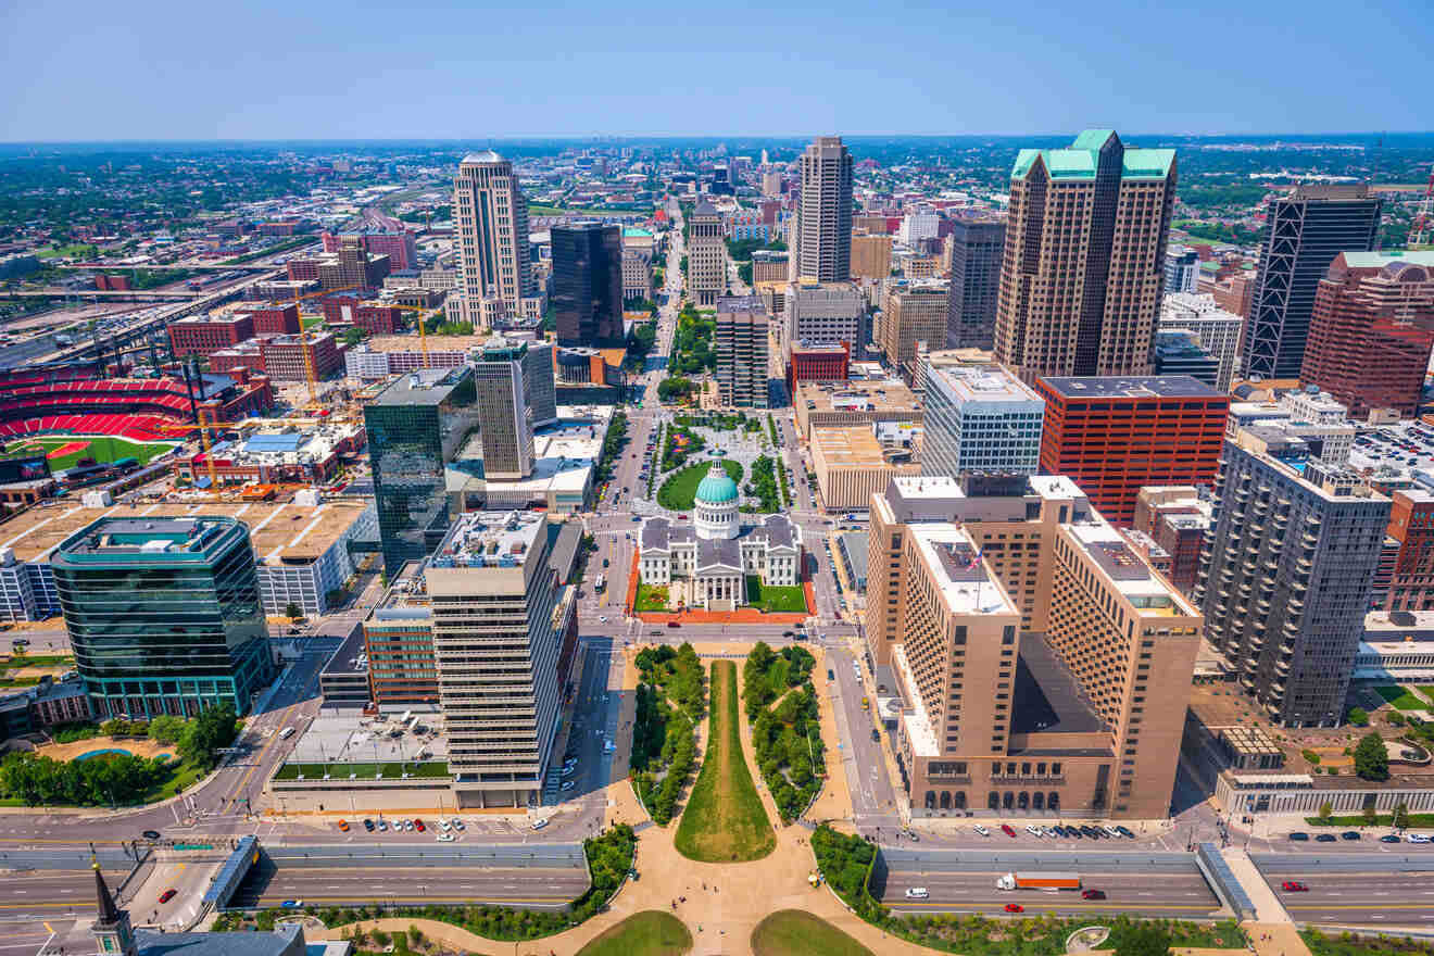
[{"label": "white and blue boxy office building left of the red-orange block", "polygon": [[1045,400],[1001,365],[925,368],[921,473],[1035,474]]}]

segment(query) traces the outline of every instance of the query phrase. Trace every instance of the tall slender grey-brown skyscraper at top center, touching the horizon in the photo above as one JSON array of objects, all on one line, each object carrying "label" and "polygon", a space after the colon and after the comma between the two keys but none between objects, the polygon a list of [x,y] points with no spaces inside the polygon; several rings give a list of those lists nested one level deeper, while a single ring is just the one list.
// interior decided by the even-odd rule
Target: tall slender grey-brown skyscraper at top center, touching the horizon
[{"label": "tall slender grey-brown skyscraper at top center, touching the horizon", "polygon": [[852,153],[840,136],[817,136],[799,166],[792,281],[846,281],[852,278]]}]

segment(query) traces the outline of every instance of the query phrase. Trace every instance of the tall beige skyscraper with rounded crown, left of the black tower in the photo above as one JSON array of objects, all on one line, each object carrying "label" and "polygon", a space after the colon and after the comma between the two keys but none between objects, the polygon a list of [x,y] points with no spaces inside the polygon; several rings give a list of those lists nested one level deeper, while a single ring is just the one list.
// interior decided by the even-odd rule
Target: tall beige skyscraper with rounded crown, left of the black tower
[{"label": "tall beige skyscraper with rounded crown, left of the black tower", "polygon": [[492,149],[463,156],[453,179],[459,295],[475,328],[531,315],[538,287],[528,261],[528,201],[513,165]]}]

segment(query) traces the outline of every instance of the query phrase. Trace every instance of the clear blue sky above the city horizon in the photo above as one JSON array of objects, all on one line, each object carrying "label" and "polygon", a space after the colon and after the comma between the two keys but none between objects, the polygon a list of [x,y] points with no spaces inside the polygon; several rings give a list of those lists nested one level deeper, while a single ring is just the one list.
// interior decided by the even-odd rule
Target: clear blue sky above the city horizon
[{"label": "clear blue sky above the city horizon", "polygon": [[0,139],[1430,130],[1430,1],[4,0]]}]

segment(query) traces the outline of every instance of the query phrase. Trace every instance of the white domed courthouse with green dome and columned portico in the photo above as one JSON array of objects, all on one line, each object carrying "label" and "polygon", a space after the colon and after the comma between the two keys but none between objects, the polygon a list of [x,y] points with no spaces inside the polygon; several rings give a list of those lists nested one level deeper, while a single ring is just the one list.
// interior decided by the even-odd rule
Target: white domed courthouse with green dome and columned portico
[{"label": "white domed courthouse with green dome and columned portico", "polygon": [[802,580],[802,529],[786,515],[741,523],[741,494],[721,464],[697,486],[693,520],[650,517],[638,550],[642,583],[673,592],[673,605],[731,611],[747,603],[747,578],[767,586]]}]

